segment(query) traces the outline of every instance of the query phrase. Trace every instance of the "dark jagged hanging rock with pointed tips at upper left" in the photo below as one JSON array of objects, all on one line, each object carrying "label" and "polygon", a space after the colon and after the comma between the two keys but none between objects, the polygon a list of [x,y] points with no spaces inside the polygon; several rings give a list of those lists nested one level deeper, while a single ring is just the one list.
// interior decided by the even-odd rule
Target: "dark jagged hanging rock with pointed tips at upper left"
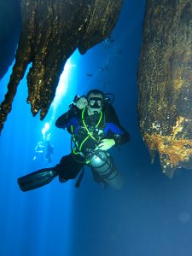
[{"label": "dark jagged hanging rock with pointed tips at upper left", "polygon": [[54,99],[63,67],[79,49],[84,54],[108,38],[123,0],[20,0],[22,26],[8,92],[0,106],[0,131],[11,111],[26,67],[32,114],[44,119]]}]

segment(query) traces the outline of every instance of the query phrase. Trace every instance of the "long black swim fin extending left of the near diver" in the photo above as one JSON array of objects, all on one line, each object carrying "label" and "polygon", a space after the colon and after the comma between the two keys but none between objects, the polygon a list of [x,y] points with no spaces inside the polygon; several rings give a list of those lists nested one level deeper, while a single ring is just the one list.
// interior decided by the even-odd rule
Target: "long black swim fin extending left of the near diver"
[{"label": "long black swim fin extending left of the near diver", "polygon": [[17,179],[17,183],[20,186],[20,190],[28,191],[32,189],[37,189],[39,187],[42,187],[48,184],[57,175],[58,175],[58,172],[56,172],[55,167],[44,168],[39,171],[27,174],[26,176],[19,177]]}]

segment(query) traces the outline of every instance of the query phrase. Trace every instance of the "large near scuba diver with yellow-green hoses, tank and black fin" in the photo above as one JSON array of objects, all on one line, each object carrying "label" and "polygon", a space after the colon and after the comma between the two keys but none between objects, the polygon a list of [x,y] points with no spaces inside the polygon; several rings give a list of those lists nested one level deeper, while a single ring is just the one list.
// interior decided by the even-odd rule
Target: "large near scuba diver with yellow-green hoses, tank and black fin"
[{"label": "large near scuba diver with yellow-green hoses, tank and black fin", "polygon": [[129,142],[130,134],[120,125],[107,94],[101,90],[90,90],[87,96],[75,96],[67,113],[63,113],[55,125],[67,129],[72,135],[72,152],[63,156],[54,167],[19,177],[18,184],[22,191],[44,186],[57,176],[61,183],[65,183],[79,175],[75,185],[79,187],[84,165],[90,166],[94,181],[103,189],[108,185],[113,189],[123,186],[124,177],[114,165],[108,149]]}]

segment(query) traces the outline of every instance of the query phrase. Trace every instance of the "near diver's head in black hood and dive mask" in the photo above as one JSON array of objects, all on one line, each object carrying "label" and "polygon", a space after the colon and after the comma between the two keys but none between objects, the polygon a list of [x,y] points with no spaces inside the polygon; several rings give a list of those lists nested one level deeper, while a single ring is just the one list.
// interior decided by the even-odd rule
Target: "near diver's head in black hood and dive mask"
[{"label": "near diver's head in black hood and dive mask", "polygon": [[101,90],[90,90],[86,96],[88,101],[88,114],[100,113],[102,111],[104,94]]}]

